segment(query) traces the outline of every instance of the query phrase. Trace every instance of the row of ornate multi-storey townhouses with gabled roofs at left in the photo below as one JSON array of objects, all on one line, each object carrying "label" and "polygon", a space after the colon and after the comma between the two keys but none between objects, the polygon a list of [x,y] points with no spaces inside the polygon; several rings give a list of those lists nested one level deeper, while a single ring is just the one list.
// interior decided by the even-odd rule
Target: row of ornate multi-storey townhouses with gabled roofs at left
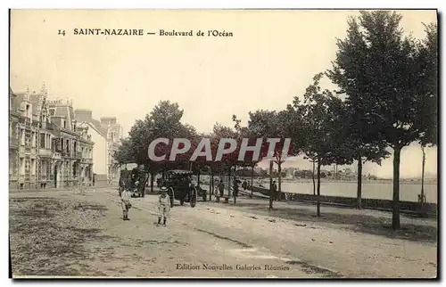
[{"label": "row of ornate multi-storey townhouses with gabled roofs at left", "polygon": [[93,181],[93,146],[76,127],[70,102],[48,101],[41,93],[10,88],[10,189],[45,189]]}]

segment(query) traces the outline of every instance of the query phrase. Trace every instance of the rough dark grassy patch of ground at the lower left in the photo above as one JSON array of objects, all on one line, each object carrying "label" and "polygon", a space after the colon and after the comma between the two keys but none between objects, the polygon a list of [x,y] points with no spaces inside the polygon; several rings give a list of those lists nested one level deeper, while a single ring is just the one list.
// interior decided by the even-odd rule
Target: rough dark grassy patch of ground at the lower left
[{"label": "rough dark grassy patch of ground at the lower left", "polygon": [[91,254],[82,243],[105,239],[105,210],[85,201],[10,198],[12,275],[86,275]]}]

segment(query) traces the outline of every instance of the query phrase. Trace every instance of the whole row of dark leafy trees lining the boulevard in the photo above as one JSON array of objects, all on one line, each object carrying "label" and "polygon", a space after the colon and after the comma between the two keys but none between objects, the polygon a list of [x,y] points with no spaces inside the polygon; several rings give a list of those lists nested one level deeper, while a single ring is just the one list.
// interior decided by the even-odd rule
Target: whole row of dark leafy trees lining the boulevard
[{"label": "whole row of dark leafy trees lining the boulevard", "polygon": [[[216,124],[211,134],[199,134],[194,127],[181,123],[183,111],[177,103],[160,102],[144,120],[132,127],[116,159],[121,163],[145,164],[155,174],[169,168],[190,168],[191,153],[202,137],[211,138],[215,156],[220,138],[236,139],[237,149],[243,138],[255,144],[264,139],[259,160],[247,153],[238,160],[238,150],[220,162],[203,157],[194,163],[199,173],[208,168],[211,175],[231,175],[232,168],[251,167],[269,160],[269,174],[277,164],[278,190],[281,191],[281,166],[284,156],[304,157],[317,169],[320,195],[320,169],[326,165],[358,164],[358,208],[361,207],[362,165],[366,161],[380,164],[393,151],[393,216],[392,227],[400,228],[400,160],[401,149],[410,143],[422,146],[437,141],[437,27],[425,25],[425,39],[404,36],[401,15],[396,12],[360,12],[348,22],[347,37],[339,39],[332,69],[318,73],[307,87],[303,101],[294,97],[283,111],[253,111],[246,127],[233,116],[234,127]],[[338,90],[320,86],[329,78]],[[155,138],[189,138],[190,152],[177,161],[153,162],[147,157],[147,146]],[[281,139],[274,151],[268,151],[267,138]],[[284,139],[291,138],[287,154],[282,153]],[[161,145],[160,145],[161,146]],[[169,157],[171,145],[157,152]],[[152,176],[153,178],[153,176]],[[270,177],[270,183],[272,177]],[[316,184],[315,184],[316,185]],[[153,184],[152,184],[153,186]],[[273,208],[272,196],[269,208]],[[317,204],[320,216],[320,204]]]}]

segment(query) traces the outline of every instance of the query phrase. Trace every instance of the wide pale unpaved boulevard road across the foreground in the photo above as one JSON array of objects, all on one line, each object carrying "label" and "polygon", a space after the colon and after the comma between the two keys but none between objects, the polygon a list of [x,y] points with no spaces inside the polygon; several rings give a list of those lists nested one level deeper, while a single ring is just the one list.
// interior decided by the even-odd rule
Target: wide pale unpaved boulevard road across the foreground
[{"label": "wide pale unpaved boulevard road across the foreground", "polygon": [[[129,221],[121,219],[120,198],[113,189],[87,191],[84,195],[70,191],[14,193],[11,199],[29,196],[84,202],[86,207],[71,211],[78,214],[64,215],[80,218],[71,226],[87,228],[84,226],[87,225],[88,230],[97,231],[97,235],[82,240],[84,255],[81,258],[67,257],[70,268],[76,270],[74,275],[239,278],[436,276],[437,247],[434,242],[364,234],[318,221],[273,217],[268,212],[252,213],[247,207],[256,202],[247,198],[240,198],[240,206],[198,201],[195,208],[188,203],[179,206],[177,201],[168,225],[164,227],[155,224],[155,195],[133,199],[134,208],[129,212]],[[88,209],[85,202],[90,202],[91,206],[103,206],[103,209],[97,212],[96,209]],[[14,238],[20,242],[21,232],[16,231],[16,237],[12,232],[12,256],[20,250],[19,246],[14,246],[18,244],[14,243]],[[38,262],[41,258],[34,260]],[[33,262],[32,258],[29,262]],[[14,263],[12,259],[12,270],[14,264],[19,264],[19,260]],[[22,267],[21,270],[29,270],[29,266],[27,268]],[[48,272],[50,274],[45,275],[52,275],[51,271]],[[44,275],[36,270],[34,274]]]}]

